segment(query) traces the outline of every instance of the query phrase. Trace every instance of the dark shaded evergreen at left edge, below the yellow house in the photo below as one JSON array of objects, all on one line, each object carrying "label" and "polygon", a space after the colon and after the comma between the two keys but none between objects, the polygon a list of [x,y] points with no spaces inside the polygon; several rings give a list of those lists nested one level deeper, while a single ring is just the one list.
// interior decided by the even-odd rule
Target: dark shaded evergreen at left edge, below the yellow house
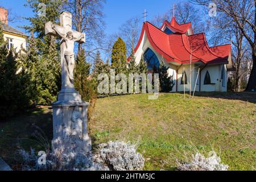
[{"label": "dark shaded evergreen at left edge, below the yellow house", "polygon": [[11,117],[31,106],[30,75],[17,72],[14,48],[7,48],[0,26],[0,118]]}]

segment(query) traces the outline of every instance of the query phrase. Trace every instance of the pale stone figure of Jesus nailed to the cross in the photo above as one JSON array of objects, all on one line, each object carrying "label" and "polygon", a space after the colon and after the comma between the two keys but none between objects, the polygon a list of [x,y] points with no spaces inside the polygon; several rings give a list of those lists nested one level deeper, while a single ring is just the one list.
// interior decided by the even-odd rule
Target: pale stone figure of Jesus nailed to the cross
[{"label": "pale stone figure of Jesus nailed to the cross", "polygon": [[69,80],[73,83],[74,82],[73,71],[75,69],[75,53],[74,53],[75,42],[81,39],[84,39],[84,35],[81,34],[79,38],[74,39],[72,31],[69,31],[67,32],[66,35],[64,35],[64,34],[61,34],[61,32],[59,32],[59,30],[55,27],[55,25],[52,26],[52,29],[55,30],[63,40],[65,40],[64,58],[68,65]]}]

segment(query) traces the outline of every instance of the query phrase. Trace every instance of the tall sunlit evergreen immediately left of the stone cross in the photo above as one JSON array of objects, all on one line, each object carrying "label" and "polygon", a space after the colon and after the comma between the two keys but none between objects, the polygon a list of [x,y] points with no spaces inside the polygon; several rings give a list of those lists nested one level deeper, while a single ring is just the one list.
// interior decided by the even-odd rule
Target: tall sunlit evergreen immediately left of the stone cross
[{"label": "tall sunlit evergreen immediately left of the stone cross", "polygon": [[[46,5],[45,13],[44,7],[39,6],[39,3]],[[27,0],[26,7],[33,10],[34,16],[26,18],[29,26],[24,26],[28,32],[35,32],[36,38],[33,39],[36,51],[37,60],[33,67],[35,73],[36,87],[39,92],[38,104],[51,104],[56,101],[56,96],[61,89],[61,71],[60,71],[60,40],[55,39],[53,36],[45,35],[45,24],[49,21],[59,24],[59,16],[63,10],[63,0]],[[31,60],[34,60],[35,55],[31,55]],[[30,58],[27,63],[32,63]],[[30,65],[27,65],[30,67]],[[34,78],[34,77],[33,77]]]}]

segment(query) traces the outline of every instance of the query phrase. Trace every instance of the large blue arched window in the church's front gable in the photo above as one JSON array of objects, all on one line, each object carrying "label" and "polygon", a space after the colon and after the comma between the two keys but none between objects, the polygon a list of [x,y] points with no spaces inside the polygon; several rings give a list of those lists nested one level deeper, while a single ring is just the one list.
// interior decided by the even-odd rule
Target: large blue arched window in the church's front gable
[{"label": "large blue arched window in the church's front gable", "polygon": [[160,67],[158,57],[150,48],[148,48],[144,53],[144,61],[147,63],[148,71],[153,71],[154,69],[158,69]]}]

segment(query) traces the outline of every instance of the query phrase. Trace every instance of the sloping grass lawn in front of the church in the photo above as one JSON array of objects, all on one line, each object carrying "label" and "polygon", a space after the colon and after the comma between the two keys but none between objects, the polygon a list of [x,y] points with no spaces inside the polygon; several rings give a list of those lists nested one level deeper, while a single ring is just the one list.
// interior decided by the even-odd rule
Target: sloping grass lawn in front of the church
[{"label": "sloping grass lawn in front of the church", "polygon": [[[0,156],[15,166],[19,147],[40,148],[31,137],[32,123],[51,139],[51,122],[49,107],[0,122]],[[173,93],[154,101],[138,94],[98,99],[89,129],[94,146],[109,140],[137,143],[146,170],[173,170],[176,159],[195,154],[195,148],[205,155],[220,152],[230,170],[255,170],[255,123],[255,93],[200,93],[193,100]]]}]

